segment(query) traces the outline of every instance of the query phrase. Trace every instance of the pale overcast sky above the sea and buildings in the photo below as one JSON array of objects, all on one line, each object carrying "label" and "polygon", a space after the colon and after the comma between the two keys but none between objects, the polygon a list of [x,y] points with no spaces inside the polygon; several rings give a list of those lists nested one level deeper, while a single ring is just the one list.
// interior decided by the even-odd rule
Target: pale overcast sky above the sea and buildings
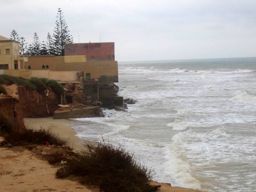
[{"label": "pale overcast sky above the sea and buildings", "polygon": [[[58,8],[74,43],[115,42],[117,61],[255,57],[255,0],[0,0],[0,35],[32,43]],[[79,36],[79,39],[78,39]]]}]

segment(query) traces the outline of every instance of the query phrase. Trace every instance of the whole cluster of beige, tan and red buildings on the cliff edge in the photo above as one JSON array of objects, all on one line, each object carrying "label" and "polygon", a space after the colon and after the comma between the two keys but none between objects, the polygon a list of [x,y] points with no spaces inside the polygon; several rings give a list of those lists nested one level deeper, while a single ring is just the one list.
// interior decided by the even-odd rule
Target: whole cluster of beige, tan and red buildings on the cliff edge
[{"label": "whole cluster of beige, tan and red buildings on the cliff edge", "polygon": [[47,78],[59,83],[83,80],[84,95],[105,106],[115,105],[114,83],[118,82],[115,44],[66,41],[65,55],[20,55],[19,42],[0,36],[0,74]]}]

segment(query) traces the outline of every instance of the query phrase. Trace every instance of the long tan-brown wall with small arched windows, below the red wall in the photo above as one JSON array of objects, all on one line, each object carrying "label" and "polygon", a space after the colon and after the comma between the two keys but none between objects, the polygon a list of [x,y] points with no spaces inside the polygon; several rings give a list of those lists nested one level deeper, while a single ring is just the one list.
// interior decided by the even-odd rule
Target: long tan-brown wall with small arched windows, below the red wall
[{"label": "long tan-brown wall with small arched windows, below the red wall", "polygon": [[28,57],[28,66],[31,67],[31,70],[42,70],[43,65],[48,65],[51,71],[84,71],[85,79],[86,73],[90,73],[91,79],[99,79],[100,82],[101,77],[108,78],[108,82],[118,82],[117,61],[65,63],[64,56]]}]

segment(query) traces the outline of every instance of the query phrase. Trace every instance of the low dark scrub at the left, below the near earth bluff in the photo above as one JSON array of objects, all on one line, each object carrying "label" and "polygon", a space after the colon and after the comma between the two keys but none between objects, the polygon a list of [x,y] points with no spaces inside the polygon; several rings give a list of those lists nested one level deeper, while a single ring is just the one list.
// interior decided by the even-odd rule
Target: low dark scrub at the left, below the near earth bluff
[{"label": "low dark scrub at the left, below the near earth bluff", "polygon": [[50,129],[26,129],[24,133],[12,132],[10,130],[7,130],[5,132],[2,132],[2,134],[4,136],[4,141],[2,141],[1,145],[4,145],[6,143],[11,143],[13,145],[22,145],[26,143],[43,145],[46,141],[48,141],[50,145],[53,144],[57,146],[64,146],[68,144],[68,140],[65,140],[59,135],[51,132]]}]

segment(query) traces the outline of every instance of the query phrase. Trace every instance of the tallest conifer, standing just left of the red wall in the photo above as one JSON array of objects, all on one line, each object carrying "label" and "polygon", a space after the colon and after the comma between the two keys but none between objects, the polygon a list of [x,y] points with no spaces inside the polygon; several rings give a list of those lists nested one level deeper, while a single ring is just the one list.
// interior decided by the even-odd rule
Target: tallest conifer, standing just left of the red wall
[{"label": "tallest conifer, standing just left of the red wall", "polygon": [[64,55],[65,41],[69,40],[70,43],[73,43],[73,37],[69,34],[67,22],[64,19],[63,12],[59,8],[57,13],[57,20],[55,21],[56,27],[54,27],[54,45],[56,55]]}]

